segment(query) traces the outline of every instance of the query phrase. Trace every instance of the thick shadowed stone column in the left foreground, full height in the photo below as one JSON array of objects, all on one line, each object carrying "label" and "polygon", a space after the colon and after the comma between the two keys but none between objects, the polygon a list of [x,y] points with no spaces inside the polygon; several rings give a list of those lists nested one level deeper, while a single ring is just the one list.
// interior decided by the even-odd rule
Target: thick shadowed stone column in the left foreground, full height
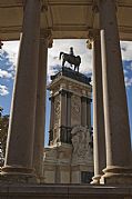
[{"label": "thick shadowed stone column in the left foreground, full height", "polygon": [[40,0],[27,0],[3,173],[32,173],[38,81]]}]

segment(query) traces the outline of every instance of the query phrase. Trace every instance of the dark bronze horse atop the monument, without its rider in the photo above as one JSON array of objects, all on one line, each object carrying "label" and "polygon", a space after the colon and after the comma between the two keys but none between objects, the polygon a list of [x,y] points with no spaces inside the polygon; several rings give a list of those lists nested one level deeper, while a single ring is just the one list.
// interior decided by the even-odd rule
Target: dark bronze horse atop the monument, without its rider
[{"label": "dark bronze horse atop the monument, without its rider", "polygon": [[72,56],[69,53],[64,53],[64,52],[60,52],[60,59],[62,57],[62,67],[64,67],[65,61],[69,62],[72,67],[72,64],[74,64],[74,70],[77,69],[77,71],[79,72],[79,67],[81,63],[81,58],[80,56]]}]

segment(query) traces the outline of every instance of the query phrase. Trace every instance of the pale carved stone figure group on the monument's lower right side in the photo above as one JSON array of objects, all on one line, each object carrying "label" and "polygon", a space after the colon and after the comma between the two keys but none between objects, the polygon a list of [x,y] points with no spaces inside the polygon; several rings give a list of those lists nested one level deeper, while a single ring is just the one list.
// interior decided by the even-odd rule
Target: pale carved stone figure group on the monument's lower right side
[{"label": "pale carved stone figure group on the monument's lower right side", "polygon": [[72,135],[72,162],[88,163],[92,161],[92,151],[90,147],[91,138],[88,128],[77,126],[71,131]]}]

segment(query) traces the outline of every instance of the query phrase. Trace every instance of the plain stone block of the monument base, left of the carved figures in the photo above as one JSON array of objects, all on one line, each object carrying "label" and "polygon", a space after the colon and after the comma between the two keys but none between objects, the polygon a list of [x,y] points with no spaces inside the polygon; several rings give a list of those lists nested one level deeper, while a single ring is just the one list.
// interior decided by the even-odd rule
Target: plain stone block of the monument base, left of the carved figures
[{"label": "plain stone block of the monument base, left of the carved figures", "polygon": [[72,146],[67,143],[44,148],[42,182],[70,183],[71,153]]}]

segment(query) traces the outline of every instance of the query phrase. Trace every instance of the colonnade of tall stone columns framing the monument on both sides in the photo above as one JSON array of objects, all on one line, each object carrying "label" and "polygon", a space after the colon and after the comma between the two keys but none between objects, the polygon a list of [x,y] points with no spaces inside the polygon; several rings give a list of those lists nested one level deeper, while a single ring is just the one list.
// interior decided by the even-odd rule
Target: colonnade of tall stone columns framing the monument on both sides
[{"label": "colonnade of tall stone columns framing the monument on both sides", "polygon": [[[131,183],[130,129],[115,1],[100,0],[99,12],[100,31],[93,30],[93,183]],[[40,0],[26,1],[2,168],[3,175],[24,179],[35,172],[42,176],[49,32],[40,31]]]}]

